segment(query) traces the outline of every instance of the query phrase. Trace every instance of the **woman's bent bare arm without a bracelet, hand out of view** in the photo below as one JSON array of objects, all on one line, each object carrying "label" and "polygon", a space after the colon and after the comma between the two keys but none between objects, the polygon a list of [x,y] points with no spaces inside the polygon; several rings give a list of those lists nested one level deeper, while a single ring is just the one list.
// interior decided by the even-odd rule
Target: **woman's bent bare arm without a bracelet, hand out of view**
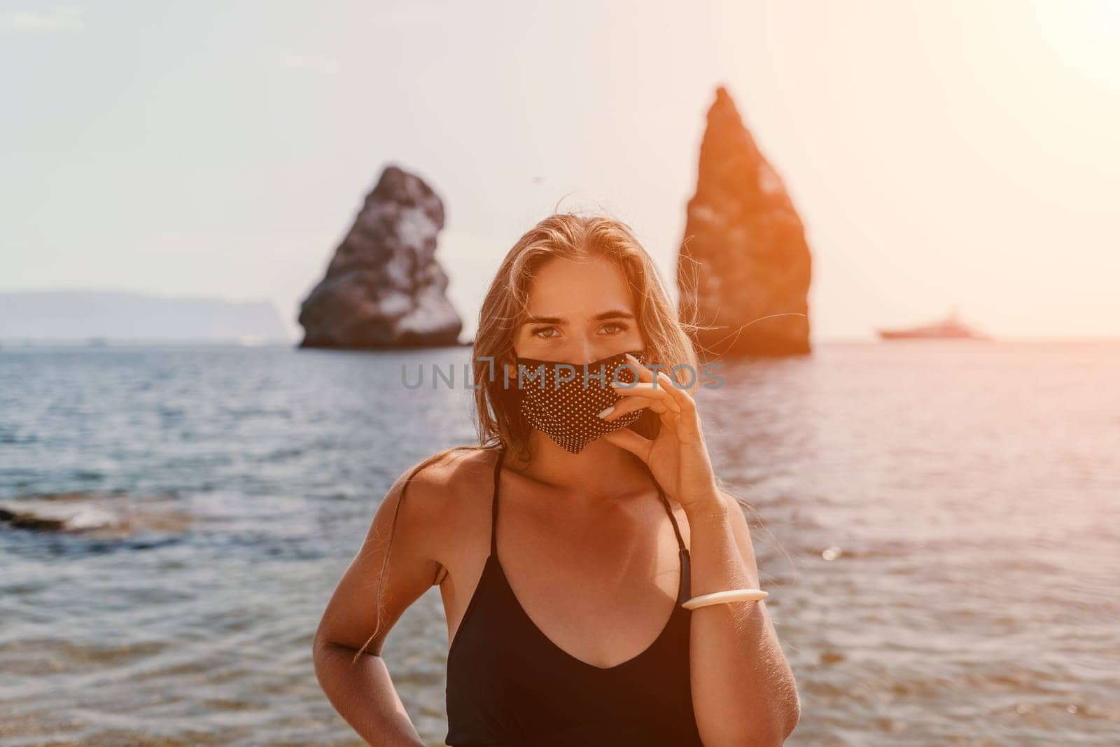
[{"label": "woman's bent bare arm without a bracelet, hand out of view", "polygon": [[[403,502],[404,476],[390,488],[315,634],[312,660],[319,685],[342,717],[372,745],[424,744],[393,687],[381,650],[389,631],[432,586],[440,569],[429,551],[437,541],[433,534],[439,519],[439,491],[429,477],[433,469],[428,467],[412,478]],[[396,529],[383,569],[394,513]],[[355,662],[366,641],[368,645]]]}]

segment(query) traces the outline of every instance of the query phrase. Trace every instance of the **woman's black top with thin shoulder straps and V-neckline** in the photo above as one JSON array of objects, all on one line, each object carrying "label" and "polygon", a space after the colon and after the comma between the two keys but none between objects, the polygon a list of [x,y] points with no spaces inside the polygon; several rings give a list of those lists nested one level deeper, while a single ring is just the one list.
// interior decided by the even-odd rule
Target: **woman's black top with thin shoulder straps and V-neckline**
[{"label": "woman's black top with thin shoulder straps and V-neckline", "polygon": [[447,656],[451,747],[475,745],[699,745],[689,679],[689,551],[672,508],[681,577],[676,604],[657,638],[609,667],[571,656],[522,608],[497,558],[498,484],[494,466],[491,553]]}]

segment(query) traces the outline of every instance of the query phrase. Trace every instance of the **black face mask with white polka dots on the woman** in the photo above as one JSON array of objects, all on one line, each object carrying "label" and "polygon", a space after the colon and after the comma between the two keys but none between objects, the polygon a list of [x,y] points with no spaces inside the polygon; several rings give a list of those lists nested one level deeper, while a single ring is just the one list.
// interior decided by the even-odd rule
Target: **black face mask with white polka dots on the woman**
[{"label": "black face mask with white polka dots on the woman", "polygon": [[[629,351],[629,354],[645,363],[642,351]],[[614,420],[599,417],[599,412],[623,399],[612,383],[638,381],[625,352],[586,365],[523,357],[517,357],[516,363],[517,370],[510,371],[508,387],[516,390],[520,384],[515,393],[521,414],[533,428],[572,454],[579,454],[604,433],[637,422],[645,411],[642,408]]]}]

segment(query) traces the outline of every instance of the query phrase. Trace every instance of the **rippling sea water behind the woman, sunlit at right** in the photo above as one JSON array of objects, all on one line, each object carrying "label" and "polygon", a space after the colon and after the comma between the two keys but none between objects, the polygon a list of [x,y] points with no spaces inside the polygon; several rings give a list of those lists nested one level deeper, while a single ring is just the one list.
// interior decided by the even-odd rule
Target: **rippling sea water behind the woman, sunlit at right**
[{"label": "rippling sea water behind the woman, sunlit at right", "polygon": [[[477,442],[469,356],[0,348],[0,505],[129,522],[0,522],[0,747],[365,744],[312,635],[390,484]],[[409,385],[433,366],[454,385]],[[719,373],[697,402],[797,682],[786,745],[1120,744],[1120,343]],[[433,587],[383,652],[428,745],[447,643]]]}]

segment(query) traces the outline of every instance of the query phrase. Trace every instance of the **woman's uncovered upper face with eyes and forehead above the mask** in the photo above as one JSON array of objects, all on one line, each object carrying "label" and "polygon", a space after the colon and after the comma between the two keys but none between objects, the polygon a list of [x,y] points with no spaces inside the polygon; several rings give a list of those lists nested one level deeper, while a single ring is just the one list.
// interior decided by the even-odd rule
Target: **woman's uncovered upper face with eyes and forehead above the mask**
[{"label": "woman's uncovered upper face with eyes and forehead above the mask", "polygon": [[580,365],[644,347],[632,292],[603,259],[545,262],[529,288],[529,316],[514,337],[520,357]]}]

